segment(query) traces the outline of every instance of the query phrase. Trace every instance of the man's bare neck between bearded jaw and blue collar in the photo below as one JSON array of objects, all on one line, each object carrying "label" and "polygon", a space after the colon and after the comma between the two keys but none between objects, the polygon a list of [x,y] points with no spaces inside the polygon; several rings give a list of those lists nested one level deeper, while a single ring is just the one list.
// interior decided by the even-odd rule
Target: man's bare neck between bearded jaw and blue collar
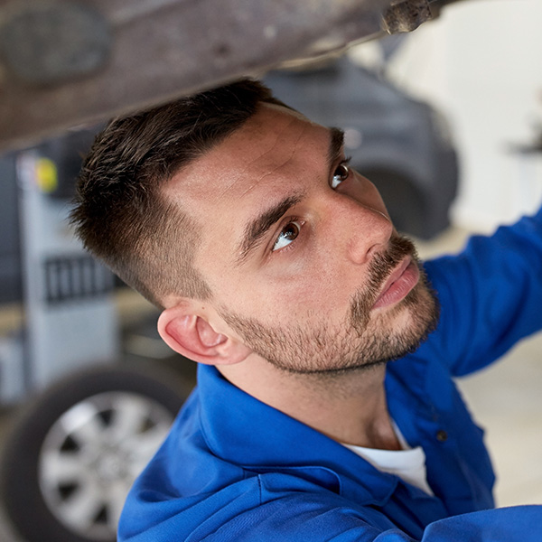
[{"label": "man's bare neck between bearded jaw and blue collar", "polygon": [[384,364],[339,373],[294,374],[253,355],[219,369],[251,396],[338,442],[400,449],[388,415]]}]

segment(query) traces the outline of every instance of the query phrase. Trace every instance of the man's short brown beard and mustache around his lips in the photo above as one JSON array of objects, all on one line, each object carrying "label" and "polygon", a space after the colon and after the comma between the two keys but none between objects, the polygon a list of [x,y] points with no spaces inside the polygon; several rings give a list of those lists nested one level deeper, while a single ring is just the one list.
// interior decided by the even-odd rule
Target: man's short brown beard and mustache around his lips
[{"label": "man's short brown beard and mustache around his lips", "polygon": [[[420,269],[418,283],[387,312],[372,314],[382,286],[406,256]],[[373,257],[368,276],[367,284],[351,296],[340,324],[318,322],[314,317],[304,324],[275,327],[225,308],[220,314],[251,350],[277,369],[322,376],[369,369],[416,350],[435,330],[439,305],[408,238],[391,238],[388,249]],[[401,317],[405,312],[406,317]]]}]

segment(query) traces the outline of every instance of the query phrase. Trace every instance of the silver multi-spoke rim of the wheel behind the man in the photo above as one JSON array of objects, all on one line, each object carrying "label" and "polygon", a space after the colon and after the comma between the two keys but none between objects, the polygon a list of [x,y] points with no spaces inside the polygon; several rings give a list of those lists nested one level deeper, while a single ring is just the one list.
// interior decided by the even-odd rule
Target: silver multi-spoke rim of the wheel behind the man
[{"label": "silver multi-spoke rim of the wheel behind the man", "polygon": [[157,401],[121,391],[72,406],[40,454],[40,488],[53,516],[79,536],[114,539],[127,491],[172,422]]}]

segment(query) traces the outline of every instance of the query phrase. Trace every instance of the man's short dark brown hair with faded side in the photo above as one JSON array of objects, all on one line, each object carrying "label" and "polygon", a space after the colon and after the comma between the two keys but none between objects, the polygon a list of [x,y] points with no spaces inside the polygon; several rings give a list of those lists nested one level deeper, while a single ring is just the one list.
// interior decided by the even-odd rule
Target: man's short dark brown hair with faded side
[{"label": "man's short dark brown hair with faded side", "polygon": [[242,126],[259,102],[284,105],[258,81],[243,79],[116,118],[92,145],[71,223],[91,253],[153,304],[162,306],[167,294],[211,295],[193,266],[196,225],[160,187]]}]

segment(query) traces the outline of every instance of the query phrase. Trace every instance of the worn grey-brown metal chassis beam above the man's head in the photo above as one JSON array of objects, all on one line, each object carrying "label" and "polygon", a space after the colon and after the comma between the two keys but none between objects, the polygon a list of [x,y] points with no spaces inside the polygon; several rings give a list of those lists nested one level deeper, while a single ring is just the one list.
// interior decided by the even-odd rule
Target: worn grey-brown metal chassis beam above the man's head
[{"label": "worn grey-brown metal chassis beam above the man's head", "polygon": [[0,0],[0,148],[257,76],[386,29],[411,30],[430,17],[427,5],[429,0]]}]

